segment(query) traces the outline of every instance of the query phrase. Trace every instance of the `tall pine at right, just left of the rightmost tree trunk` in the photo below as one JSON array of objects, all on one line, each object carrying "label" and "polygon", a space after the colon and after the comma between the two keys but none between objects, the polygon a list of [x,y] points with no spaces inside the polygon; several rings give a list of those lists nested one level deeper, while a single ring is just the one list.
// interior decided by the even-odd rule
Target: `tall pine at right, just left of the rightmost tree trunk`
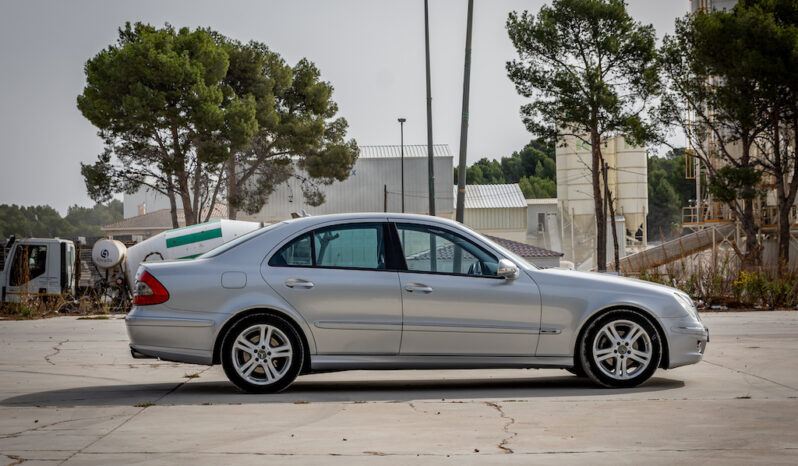
[{"label": "tall pine at right, just left of the rightmost tree trunk", "polygon": [[770,63],[790,54],[776,36],[772,18],[741,4],[677,20],[676,33],[665,37],[660,51],[668,83],[661,113],[687,135],[707,172],[708,193],[726,202],[740,221],[744,267],[761,262],[754,209],[761,160],[754,149],[767,152],[760,141],[779,126],[774,103],[781,91],[773,84],[782,78],[771,80],[774,70],[790,73],[784,63]]}]

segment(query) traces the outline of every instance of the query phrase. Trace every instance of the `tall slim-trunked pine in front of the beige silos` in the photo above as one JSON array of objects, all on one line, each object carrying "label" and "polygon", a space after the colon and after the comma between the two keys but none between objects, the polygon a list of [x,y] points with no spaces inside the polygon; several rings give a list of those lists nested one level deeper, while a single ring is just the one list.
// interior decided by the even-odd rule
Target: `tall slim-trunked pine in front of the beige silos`
[{"label": "tall slim-trunked pine in front of the beige silos", "polygon": [[623,0],[554,0],[537,16],[510,13],[507,30],[519,55],[507,63],[508,75],[532,99],[521,107],[527,129],[591,144],[596,264],[605,270],[601,142],[615,134],[638,144],[654,136],[641,116],[658,87],[654,29],[635,22]]}]

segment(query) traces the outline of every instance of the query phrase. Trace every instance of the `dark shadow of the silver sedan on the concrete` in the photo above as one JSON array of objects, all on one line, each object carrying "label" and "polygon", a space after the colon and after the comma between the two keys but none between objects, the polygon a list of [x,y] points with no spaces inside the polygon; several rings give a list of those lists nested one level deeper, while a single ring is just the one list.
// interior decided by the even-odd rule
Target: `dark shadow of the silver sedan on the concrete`
[{"label": "dark shadow of the silver sedan on the concrete", "polygon": [[629,389],[607,389],[573,375],[554,377],[314,380],[300,377],[281,393],[242,393],[227,381],[77,387],[7,398],[0,406],[148,406],[253,403],[369,402],[552,397],[606,398],[682,388],[684,382],[653,377]]}]

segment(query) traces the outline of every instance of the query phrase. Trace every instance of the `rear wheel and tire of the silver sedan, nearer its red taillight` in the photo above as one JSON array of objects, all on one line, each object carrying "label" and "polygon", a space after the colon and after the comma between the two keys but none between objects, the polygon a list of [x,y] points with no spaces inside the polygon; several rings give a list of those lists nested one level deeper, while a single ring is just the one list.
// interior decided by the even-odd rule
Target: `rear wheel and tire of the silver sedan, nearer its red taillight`
[{"label": "rear wheel and tire of the silver sedan, nearer its red taillight", "polygon": [[227,378],[248,393],[285,389],[299,375],[305,358],[296,328],[271,314],[236,322],[225,334],[221,351]]}]

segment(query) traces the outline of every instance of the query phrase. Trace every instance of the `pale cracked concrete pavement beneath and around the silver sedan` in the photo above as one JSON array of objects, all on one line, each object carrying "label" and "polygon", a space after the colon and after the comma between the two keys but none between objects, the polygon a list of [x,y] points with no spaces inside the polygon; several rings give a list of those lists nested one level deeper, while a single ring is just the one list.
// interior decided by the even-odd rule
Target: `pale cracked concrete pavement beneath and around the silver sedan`
[{"label": "pale cracked concrete pavement beneath and around the silver sedan", "polygon": [[635,389],[560,370],[352,371],[277,395],[132,359],[120,319],[0,321],[0,463],[798,463],[798,312],[703,318],[704,362]]}]

